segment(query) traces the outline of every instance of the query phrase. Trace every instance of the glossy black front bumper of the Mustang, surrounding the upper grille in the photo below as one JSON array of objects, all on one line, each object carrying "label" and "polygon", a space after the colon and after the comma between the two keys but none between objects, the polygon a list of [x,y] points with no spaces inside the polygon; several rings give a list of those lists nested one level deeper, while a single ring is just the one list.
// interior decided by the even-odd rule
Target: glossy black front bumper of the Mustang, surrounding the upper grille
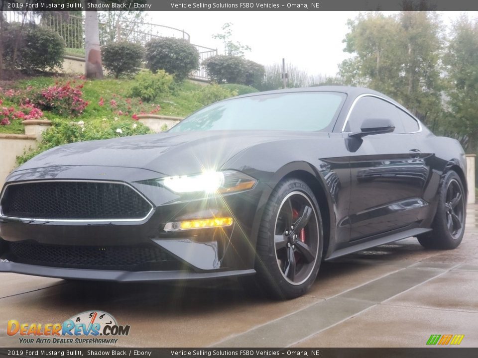
[{"label": "glossy black front bumper of the Mustang, surrounding the upper grille", "polygon": [[[73,178],[72,173],[79,175],[77,168],[56,170],[55,178],[41,179],[86,179]],[[34,177],[34,173],[25,172],[21,177],[13,174],[8,181],[39,179]],[[109,179],[129,179],[124,182],[134,186],[151,201],[153,209],[141,220],[68,222],[0,217],[0,271],[115,281],[215,278],[255,272],[255,235],[252,226],[262,194],[261,185],[244,192],[186,200],[164,188],[139,183],[137,180],[146,175],[141,173],[143,176],[139,176],[138,172],[141,173],[141,170],[116,169],[115,178]],[[130,181],[133,175],[135,181]],[[164,231],[167,222],[208,212],[232,216],[234,224],[227,228]],[[28,254],[17,257],[10,250],[13,244],[17,245],[18,250],[22,245],[31,247],[28,248]],[[153,252],[161,251],[169,262],[175,261],[176,264],[165,269],[162,262],[144,259],[140,265],[134,264],[134,267],[128,267],[129,261],[128,265],[113,265],[115,257],[109,255],[108,250],[117,253],[122,250],[120,255],[124,256],[129,248],[135,252],[138,247],[143,248],[140,252],[146,256],[149,253],[144,254],[144,247]],[[54,250],[58,248],[61,253],[56,260]],[[49,256],[48,260],[41,257],[42,252]],[[79,257],[88,257],[92,253],[96,261],[89,265],[86,260],[73,260],[74,265],[70,265],[68,257],[75,257],[75,254],[70,255],[71,252],[80,252]],[[102,255],[106,255],[108,265],[102,264]]]}]

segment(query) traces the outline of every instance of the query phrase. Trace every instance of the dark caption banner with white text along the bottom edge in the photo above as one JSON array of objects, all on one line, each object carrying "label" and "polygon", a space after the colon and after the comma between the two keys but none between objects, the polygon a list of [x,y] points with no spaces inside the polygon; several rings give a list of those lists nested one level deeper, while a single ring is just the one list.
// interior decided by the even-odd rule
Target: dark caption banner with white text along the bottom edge
[{"label": "dark caption banner with white text along the bottom edge", "polygon": [[0,357],[476,358],[478,348],[0,348]]}]

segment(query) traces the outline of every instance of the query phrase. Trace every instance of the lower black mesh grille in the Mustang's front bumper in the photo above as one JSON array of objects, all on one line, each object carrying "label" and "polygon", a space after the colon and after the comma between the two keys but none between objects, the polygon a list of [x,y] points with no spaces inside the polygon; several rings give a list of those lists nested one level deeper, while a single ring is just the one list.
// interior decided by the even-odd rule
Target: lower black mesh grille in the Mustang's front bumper
[{"label": "lower black mesh grille in the Mustang's front bumper", "polygon": [[180,263],[157,246],[60,246],[8,243],[7,260],[73,269],[180,269]]}]

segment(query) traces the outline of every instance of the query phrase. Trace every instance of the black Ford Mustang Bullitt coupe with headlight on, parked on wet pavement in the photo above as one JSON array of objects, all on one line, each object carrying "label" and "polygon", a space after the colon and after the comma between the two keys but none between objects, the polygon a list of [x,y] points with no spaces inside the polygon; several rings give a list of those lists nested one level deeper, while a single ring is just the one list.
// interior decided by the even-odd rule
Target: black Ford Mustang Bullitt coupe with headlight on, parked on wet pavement
[{"label": "black Ford Mustang Bullitt coupe with headlight on, parked on wet pavement", "polygon": [[50,149],[0,198],[1,271],[149,281],[255,274],[276,297],[320,263],[418,238],[456,248],[465,154],[369,89],[214,103],[167,133]]}]

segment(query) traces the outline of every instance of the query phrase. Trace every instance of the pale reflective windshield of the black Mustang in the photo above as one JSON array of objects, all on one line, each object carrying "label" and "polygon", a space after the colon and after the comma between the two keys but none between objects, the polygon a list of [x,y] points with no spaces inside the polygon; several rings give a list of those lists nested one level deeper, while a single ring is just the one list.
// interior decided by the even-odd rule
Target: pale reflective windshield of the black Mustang
[{"label": "pale reflective windshield of the black Mustang", "polygon": [[205,107],[170,132],[207,130],[331,131],[346,98],[339,92],[259,94]]}]

